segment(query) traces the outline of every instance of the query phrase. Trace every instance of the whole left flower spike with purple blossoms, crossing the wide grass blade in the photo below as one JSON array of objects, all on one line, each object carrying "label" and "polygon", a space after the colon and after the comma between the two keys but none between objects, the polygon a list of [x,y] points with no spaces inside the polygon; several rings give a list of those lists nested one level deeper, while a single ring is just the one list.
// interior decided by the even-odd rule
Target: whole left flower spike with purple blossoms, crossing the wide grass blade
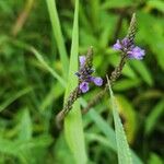
[{"label": "whole left flower spike with purple blossoms, crossing the wide grass blade", "polygon": [[61,121],[71,110],[73,103],[82,94],[86,93],[90,90],[90,83],[93,82],[95,85],[101,86],[103,84],[103,79],[99,77],[92,77],[94,69],[92,68],[93,61],[93,48],[90,47],[86,56],[80,56],[79,71],[75,72],[75,75],[79,79],[78,86],[70,93],[68,99],[63,104],[62,110],[57,115],[57,126],[60,127]]}]

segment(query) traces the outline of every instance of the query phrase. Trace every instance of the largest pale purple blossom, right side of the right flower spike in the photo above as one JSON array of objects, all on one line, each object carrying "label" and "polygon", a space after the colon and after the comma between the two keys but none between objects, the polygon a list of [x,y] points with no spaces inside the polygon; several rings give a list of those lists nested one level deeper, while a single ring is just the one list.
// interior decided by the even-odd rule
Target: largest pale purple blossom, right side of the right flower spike
[{"label": "largest pale purple blossom, right side of the right flower spike", "polygon": [[129,50],[127,54],[129,58],[139,59],[139,60],[143,59],[143,56],[145,55],[144,50],[138,46],[131,48],[131,50]]}]

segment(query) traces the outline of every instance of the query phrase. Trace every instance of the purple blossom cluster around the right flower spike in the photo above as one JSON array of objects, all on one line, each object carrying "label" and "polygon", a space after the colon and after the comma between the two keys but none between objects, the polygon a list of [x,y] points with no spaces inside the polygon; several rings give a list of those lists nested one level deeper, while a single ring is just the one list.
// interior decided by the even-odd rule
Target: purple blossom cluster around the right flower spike
[{"label": "purple blossom cluster around the right flower spike", "polygon": [[131,45],[129,39],[125,37],[122,40],[117,39],[113,46],[115,50],[121,50],[128,55],[129,58],[141,60],[145,55],[144,50],[138,46]]}]

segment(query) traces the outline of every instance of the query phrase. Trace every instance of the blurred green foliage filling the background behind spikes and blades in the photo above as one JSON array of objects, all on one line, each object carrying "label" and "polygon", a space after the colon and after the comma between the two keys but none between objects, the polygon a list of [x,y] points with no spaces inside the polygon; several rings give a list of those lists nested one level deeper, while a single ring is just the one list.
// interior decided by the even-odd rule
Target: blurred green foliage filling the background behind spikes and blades
[{"label": "blurred green foliage filling the background behind spikes and blades", "polygon": [[[55,124],[62,108],[70,57],[74,1],[56,1],[60,32],[51,27],[46,0],[0,1],[0,163],[73,163],[63,132]],[[110,73],[119,61],[112,49],[137,13],[136,42],[142,61],[129,60],[114,92],[130,147],[143,163],[164,161],[164,1],[80,0],[79,52],[94,47],[96,73]],[[57,38],[59,40],[57,40]],[[62,48],[60,46],[62,45]],[[34,48],[32,48],[34,47]],[[59,49],[59,47],[61,49]],[[65,48],[66,49],[65,49]],[[39,51],[39,52],[38,52]],[[59,75],[59,77],[58,77]],[[63,85],[61,85],[61,83]],[[86,102],[101,89],[84,95]],[[86,105],[82,101],[82,104]],[[89,163],[117,163],[108,97],[83,116]]]}]

